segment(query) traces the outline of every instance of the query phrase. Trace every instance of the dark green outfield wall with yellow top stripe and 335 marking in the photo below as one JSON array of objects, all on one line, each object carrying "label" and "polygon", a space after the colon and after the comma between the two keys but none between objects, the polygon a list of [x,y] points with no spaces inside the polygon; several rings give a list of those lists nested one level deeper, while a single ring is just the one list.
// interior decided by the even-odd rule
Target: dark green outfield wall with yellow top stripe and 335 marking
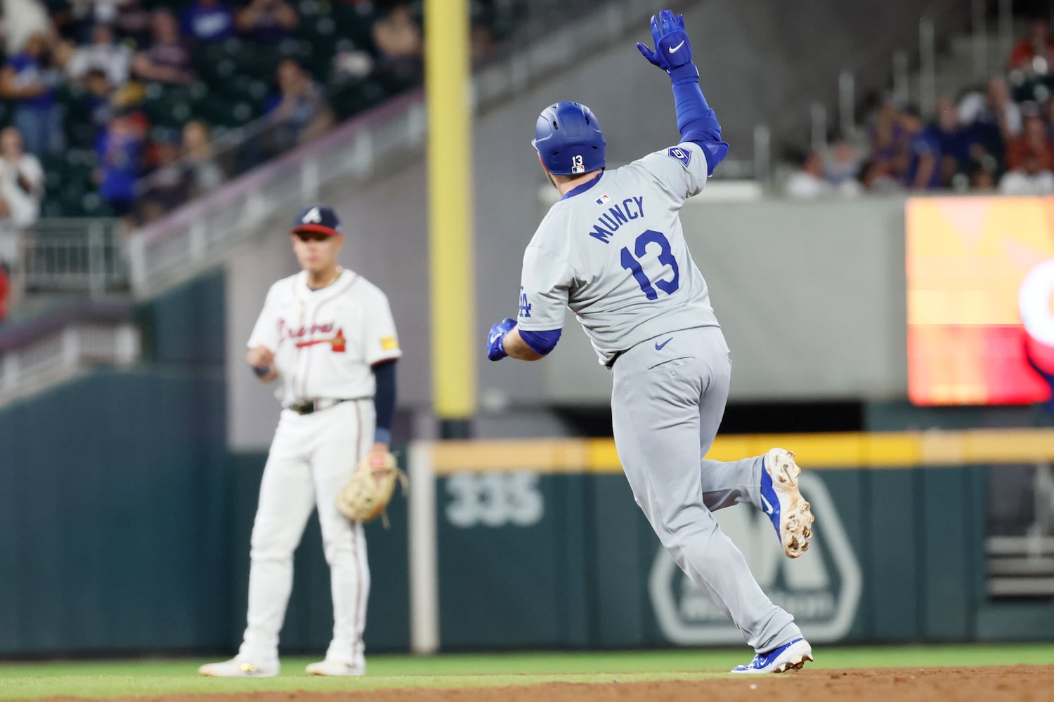
[{"label": "dark green outfield wall with yellow top stripe and 335 marking", "polygon": [[[246,369],[226,362],[226,278],[214,272],[136,310],[142,364],[0,410],[0,658],[236,646],[266,455],[230,447],[227,380]],[[979,429],[1002,420],[978,408],[890,404],[868,415],[885,432],[715,444],[717,458],[784,444],[807,468],[818,523],[801,559],[780,555],[764,516],[720,515],[759,580],[817,642],[1049,639],[1049,595],[991,591],[988,529],[1007,521],[998,496],[1015,484],[997,536],[1022,541],[1015,535],[1046,528],[1052,429]],[[905,430],[941,423],[949,428]],[[396,499],[391,529],[368,526],[371,650],[736,641],[659,548],[610,440],[405,448],[412,502]],[[1035,512],[1014,495],[1034,495]],[[434,541],[410,538],[411,507],[412,531],[425,524]],[[321,650],[332,622],[314,521],[295,582],[284,649]]]}]

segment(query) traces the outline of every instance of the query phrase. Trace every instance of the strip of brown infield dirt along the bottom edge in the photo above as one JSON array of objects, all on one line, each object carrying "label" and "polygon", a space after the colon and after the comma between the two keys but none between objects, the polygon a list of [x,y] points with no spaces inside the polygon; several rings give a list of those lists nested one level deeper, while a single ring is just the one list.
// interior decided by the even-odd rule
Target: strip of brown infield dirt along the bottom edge
[{"label": "strip of brown infield dirt along the bottom edge", "polygon": [[[69,701],[75,698],[52,698]],[[507,687],[390,688],[314,693],[164,695],[124,700],[157,702],[758,702],[760,700],[833,700],[837,702],[934,702],[944,700],[1054,700],[1054,665],[978,668],[876,668],[801,670],[779,676],[718,678],[699,681],[620,683],[544,683]]]}]

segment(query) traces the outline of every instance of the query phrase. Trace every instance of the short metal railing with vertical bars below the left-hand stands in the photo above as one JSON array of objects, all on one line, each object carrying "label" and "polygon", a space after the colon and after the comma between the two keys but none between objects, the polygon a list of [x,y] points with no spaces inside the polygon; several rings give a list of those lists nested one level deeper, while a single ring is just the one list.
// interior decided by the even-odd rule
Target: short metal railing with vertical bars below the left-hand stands
[{"label": "short metal railing with vertical bars below the left-hand stands", "polygon": [[117,219],[47,218],[23,237],[21,282],[26,292],[128,289],[129,266]]}]

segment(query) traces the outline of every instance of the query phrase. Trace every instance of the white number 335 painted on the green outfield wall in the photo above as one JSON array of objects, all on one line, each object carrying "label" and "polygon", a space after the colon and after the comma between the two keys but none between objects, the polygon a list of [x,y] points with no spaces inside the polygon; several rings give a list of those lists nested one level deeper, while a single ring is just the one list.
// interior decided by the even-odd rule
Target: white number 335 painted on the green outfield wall
[{"label": "white number 335 painted on the green outfield wall", "polygon": [[446,481],[453,526],[531,526],[545,514],[536,473],[458,473]]}]

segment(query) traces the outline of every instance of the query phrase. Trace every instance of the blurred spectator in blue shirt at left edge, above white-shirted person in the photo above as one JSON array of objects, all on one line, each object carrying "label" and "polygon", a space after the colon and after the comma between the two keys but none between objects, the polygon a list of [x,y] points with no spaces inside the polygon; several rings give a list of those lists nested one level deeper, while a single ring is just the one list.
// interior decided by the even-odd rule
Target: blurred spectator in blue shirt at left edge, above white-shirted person
[{"label": "blurred spectator in blue shirt at left edge, above white-shirted person", "polygon": [[0,69],[0,97],[15,101],[14,123],[37,156],[61,152],[62,106],[55,99],[58,73],[51,67],[47,36],[35,34]]}]

